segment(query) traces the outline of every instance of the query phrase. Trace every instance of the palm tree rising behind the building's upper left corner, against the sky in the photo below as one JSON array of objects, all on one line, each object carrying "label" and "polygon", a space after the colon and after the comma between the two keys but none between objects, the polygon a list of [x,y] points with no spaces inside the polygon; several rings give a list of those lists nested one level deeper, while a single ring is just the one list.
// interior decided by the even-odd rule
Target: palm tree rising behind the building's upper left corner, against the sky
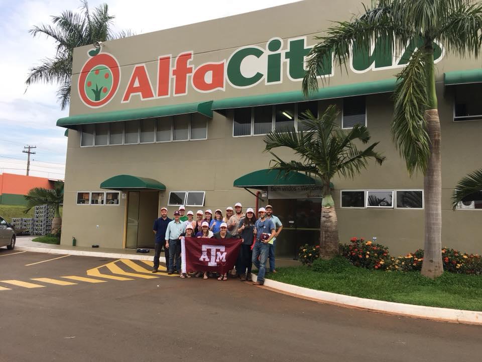
[{"label": "palm tree rising behind the building's upper left corner, against the sky", "polygon": [[58,83],[57,99],[64,110],[70,103],[72,58],[75,47],[92,45],[95,41],[106,41],[133,35],[130,31],[113,34],[110,27],[114,16],[108,14],[107,4],[101,4],[89,11],[87,0],[81,1],[81,13],[64,11],[52,16],[52,25],[34,26],[29,30],[32,36],[46,35],[55,40],[56,54],[53,58],[42,59],[42,64],[30,68],[25,83]]}]

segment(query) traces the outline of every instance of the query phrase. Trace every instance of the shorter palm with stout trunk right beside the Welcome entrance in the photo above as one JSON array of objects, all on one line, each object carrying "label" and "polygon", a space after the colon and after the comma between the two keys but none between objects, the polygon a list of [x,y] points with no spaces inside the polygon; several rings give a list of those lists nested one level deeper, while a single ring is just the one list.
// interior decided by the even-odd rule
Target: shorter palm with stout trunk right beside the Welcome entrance
[{"label": "shorter palm with stout trunk right beside the Welcome entrance", "polygon": [[[345,132],[336,123],[338,114],[335,106],[329,106],[319,118],[307,111],[303,114],[306,119],[300,120],[305,131],[275,130],[264,138],[265,150],[275,157],[271,162],[272,169],[277,169],[282,174],[290,171],[304,172],[321,179],[323,183],[320,222],[320,254],[323,258],[338,254],[338,220],[330,193],[331,179],[335,175],[353,178],[367,167],[370,158],[379,164],[385,160],[384,156],[374,150],[378,142],[359,150],[355,141],[368,143],[368,128],[355,125],[349,132]],[[276,147],[291,148],[301,161],[283,161],[271,152]]]}]

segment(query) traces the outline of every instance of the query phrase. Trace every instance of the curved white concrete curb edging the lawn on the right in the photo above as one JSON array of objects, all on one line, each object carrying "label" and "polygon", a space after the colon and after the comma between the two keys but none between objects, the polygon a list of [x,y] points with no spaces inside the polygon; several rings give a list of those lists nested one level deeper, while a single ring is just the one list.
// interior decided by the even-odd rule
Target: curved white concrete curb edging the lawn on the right
[{"label": "curved white concrete curb edging the lawn on the right", "polygon": [[[256,275],[252,279],[256,282]],[[426,307],[412,304],[394,303],[374,299],[351,297],[342,294],[317,291],[309,288],[294,286],[265,279],[264,287],[270,290],[292,295],[298,298],[334,304],[347,308],[359,308],[373,312],[395,314],[405,317],[430,319],[436,321],[482,325],[482,312],[459,309]]]}]

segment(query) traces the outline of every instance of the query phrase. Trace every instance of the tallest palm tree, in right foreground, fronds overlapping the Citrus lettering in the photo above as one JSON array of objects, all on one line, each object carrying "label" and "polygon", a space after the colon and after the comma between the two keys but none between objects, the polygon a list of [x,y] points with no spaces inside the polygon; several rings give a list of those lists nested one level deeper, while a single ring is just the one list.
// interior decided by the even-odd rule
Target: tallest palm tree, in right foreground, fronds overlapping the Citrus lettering
[{"label": "tallest palm tree, in right foreground, fronds overlapping the Citrus lettering", "polygon": [[[303,92],[318,89],[317,73],[323,58],[333,54],[345,65],[353,44],[370,49],[384,39],[390,50],[401,52],[418,39],[406,67],[397,74],[392,123],[394,143],[405,158],[410,175],[424,174],[425,240],[422,274],[443,273],[441,254],[440,121],[435,92],[435,41],[448,53],[478,56],[482,31],[482,4],[473,0],[374,0],[350,21],[338,22],[317,37],[308,55]],[[331,57],[330,57],[331,58]]]}]

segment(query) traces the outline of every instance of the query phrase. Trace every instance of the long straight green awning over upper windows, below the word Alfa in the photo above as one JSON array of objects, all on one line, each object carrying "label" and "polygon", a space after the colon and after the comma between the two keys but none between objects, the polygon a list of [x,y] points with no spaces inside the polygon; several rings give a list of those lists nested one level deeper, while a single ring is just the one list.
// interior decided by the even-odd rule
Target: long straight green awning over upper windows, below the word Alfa
[{"label": "long straight green awning over upper windows, below the word Alfa", "polygon": [[57,126],[74,128],[75,125],[119,122],[137,120],[143,118],[175,116],[188,113],[200,113],[206,117],[212,118],[212,101],[202,103],[184,103],[179,105],[169,105],[149,108],[136,108],[122,111],[88,113],[60,118]]}]

